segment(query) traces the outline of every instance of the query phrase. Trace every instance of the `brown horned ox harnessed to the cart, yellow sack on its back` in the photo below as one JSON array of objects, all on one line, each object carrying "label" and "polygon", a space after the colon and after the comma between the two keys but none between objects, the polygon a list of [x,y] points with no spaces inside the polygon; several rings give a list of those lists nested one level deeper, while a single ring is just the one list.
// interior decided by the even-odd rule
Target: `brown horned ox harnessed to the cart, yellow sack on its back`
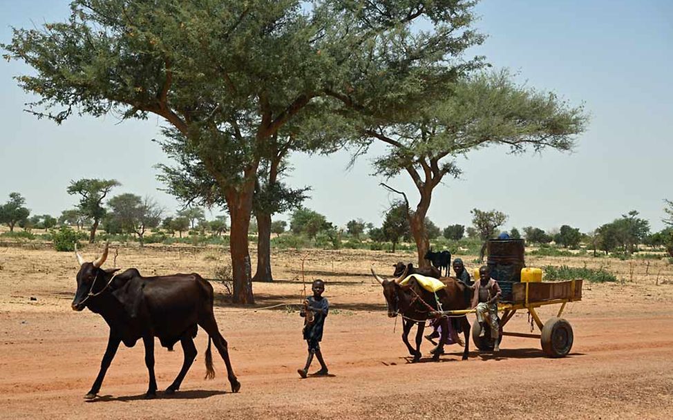
[{"label": "brown horned ox harnessed to the cart, yellow sack on its back", "polygon": [[[409,280],[404,286],[399,285],[399,282],[406,277],[406,270],[401,276],[393,280],[384,280],[376,274],[373,268],[372,274],[379,284],[383,286],[383,296],[386,298],[386,304],[388,305],[388,316],[390,318],[395,318],[398,314],[402,314],[404,326],[402,330],[402,341],[409,350],[409,354],[413,356],[413,362],[419,361],[421,359],[420,347],[421,341],[423,340],[425,321],[432,316],[430,312],[437,311],[435,294],[433,294],[433,292],[428,292],[421,287],[415,278]],[[437,298],[439,298],[439,302],[442,303],[442,309],[444,309],[444,311],[468,309],[470,307],[472,296],[471,293],[465,293],[466,285],[453,277],[442,277],[439,278],[439,280],[446,285],[444,289],[439,289],[437,291]],[[454,319],[457,319],[460,330],[462,330],[464,334],[465,348],[463,350],[462,359],[466,360],[470,352],[470,343],[468,340],[471,328],[470,323],[467,321],[467,316],[460,316],[459,318]],[[439,318],[439,321],[442,326],[442,336],[439,338],[439,345],[433,350],[433,360],[435,361],[438,361],[439,356],[444,352],[444,342],[448,335],[448,323],[451,322],[446,317]],[[411,327],[413,327],[414,324],[418,324],[416,348],[411,347],[408,338]]]}]

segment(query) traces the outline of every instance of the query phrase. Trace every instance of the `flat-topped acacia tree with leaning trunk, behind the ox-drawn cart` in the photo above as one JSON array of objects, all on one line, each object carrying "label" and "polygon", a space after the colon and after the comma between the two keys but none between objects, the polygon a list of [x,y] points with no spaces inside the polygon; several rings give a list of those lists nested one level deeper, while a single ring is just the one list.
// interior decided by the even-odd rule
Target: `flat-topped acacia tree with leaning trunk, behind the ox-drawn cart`
[{"label": "flat-topped acacia tree with leaning trunk, behind the ox-drawn cart", "polygon": [[420,102],[411,118],[363,126],[365,141],[388,146],[375,160],[377,173],[392,178],[406,172],[420,195],[408,218],[421,267],[428,265],[424,220],[433,191],[446,175],[459,176],[459,155],[496,145],[509,146],[510,153],[568,151],[587,123],[582,107],[515,84],[506,70],[461,77],[442,90],[442,97]]}]

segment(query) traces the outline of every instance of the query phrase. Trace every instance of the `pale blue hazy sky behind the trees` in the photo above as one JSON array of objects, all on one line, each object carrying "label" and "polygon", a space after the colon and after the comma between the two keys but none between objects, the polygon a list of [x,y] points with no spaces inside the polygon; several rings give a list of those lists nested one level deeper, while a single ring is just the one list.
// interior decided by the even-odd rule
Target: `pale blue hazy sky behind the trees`
[{"label": "pale blue hazy sky behind the trees", "polygon": [[[0,0],[0,6],[3,42],[10,26],[63,20],[69,11],[62,0]],[[440,227],[469,225],[477,207],[504,211],[507,228],[568,224],[589,231],[636,209],[661,229],[663,198],[673,199],[673,2],[484,0],[477,14],[476,27],[489,37],[468,55],[486,55],[527,86],[584,104],[591,124],[574,153],[471,153],[461,161],[462,178],[435,189],[428,216]],[[32,213],[58,216],[77,202],[66,193],[70,180],[115,178],[123,185],[114,193],[151,195],[167,213],[175,211],[178,202],[157,191],[153,169],[168,162],[151,141],[162,121],[73,117],[57,126],[37,120],[22,111],[30,97],[12,79],[28,71],[18,61],[0,64],[0,202],[19,191]],[[337,225],[353,218],[379,225],[395,197],[371,175],[372,156],[346,171],[347,152],[294,155],[289,182],[312,186],[305,205]],[[406,177],[388,184],[415,199]]]}]

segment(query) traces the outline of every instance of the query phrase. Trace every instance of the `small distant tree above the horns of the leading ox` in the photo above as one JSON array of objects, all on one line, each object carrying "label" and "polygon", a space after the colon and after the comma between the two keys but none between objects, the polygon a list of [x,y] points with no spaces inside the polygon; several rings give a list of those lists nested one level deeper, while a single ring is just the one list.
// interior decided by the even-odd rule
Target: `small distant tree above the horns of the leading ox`
[{"label": "small distant tree above the horns of the leading ox", "polygon": [[68,186],[68,194],[79,194],[78,208],[87,218],[91,218],[91,230],[89,231],[89,243],[93,244],[96,238],[96,230],[100,220],[105,216],[105,209],[102,205],[106,195],[114,187],[121,184],[117,180],[97,180],[83,178],[77,181],[70,181]]}]

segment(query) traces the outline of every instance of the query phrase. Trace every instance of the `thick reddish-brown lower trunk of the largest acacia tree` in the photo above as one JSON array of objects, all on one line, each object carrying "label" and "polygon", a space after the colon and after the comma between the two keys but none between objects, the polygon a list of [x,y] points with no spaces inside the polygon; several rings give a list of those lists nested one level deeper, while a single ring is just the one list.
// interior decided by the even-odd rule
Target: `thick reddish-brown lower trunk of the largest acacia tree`
[{"label": "thick reddish-brown lower trunk of the largest acacia tree", "polygon": [[255,303],[252,294],[252,267],[247,239],[254,183],[252,187],[252,189],[247,188],[249,191],[231,191],[227,194],[227,207],[229,207],[229,216],[231,216],[229,251],[231,272],[234,276],[234,303]]}]

